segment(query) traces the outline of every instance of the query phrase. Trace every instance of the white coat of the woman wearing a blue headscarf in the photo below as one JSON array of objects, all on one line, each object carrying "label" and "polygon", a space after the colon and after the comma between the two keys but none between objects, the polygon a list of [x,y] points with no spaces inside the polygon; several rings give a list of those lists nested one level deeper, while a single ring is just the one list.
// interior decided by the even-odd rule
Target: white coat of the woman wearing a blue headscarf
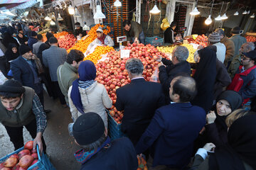
[{"label": "white coat of the woman wearing a blue headscarf", "polygon": [[[70,104],[72,118],[75,121],[80,115],[82,115],[82,113],[78,111],[70,97],[72,87],[73,86],[70,86],[68,89],[68,102]],[[110,96],[108,96],[105,86],[98,84],[97,81],[95,81],[95,83],[86,89],[82,89],[80,87],[78,87],[78,89],[80,91],[82,106],[84,108],[83,111],[85,113],[94,112],[99,114],[107,128],[107,113],[105,109],[111,108],[112,100],[110,99]]]}]

